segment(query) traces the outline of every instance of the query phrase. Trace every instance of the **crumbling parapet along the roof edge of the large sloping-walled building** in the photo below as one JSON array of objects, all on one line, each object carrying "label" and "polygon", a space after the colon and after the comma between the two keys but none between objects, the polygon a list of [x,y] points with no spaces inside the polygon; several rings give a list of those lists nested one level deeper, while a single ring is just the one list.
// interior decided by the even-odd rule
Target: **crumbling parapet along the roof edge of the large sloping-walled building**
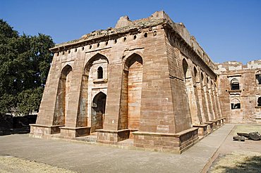
[{"label": "crumbling parapet along the roof edge of the large sloping-walled building", "polygon": [[93,43],[95,40],[99,41],[100,39],[113,39],[119,34],[124,34],[131,31],[139,31],[142,28],[153,27],[156,25],[169,25],[172,30],[175,30],[182,39],[198,54],[198,56],[205,62],[205,64],[214,71],[215,64],[211,60],[210,56],[202,49],[195,37],[190,35],[183,23],[174,23],[169,15],[164,11],[156,11],[149,18],[142,18],[139,20],[131,21],[128,16],[121,17],[116,26],[109,27],[107,30],[97,30],[89,34],[83,35],[80,39],[75,39],[73,41],[68,41],[62,44],[56,44],[54,48],[50,50],[53,52],[59,52],[66,49],[76,48],[78,46],[83,46],[89,42]]}]

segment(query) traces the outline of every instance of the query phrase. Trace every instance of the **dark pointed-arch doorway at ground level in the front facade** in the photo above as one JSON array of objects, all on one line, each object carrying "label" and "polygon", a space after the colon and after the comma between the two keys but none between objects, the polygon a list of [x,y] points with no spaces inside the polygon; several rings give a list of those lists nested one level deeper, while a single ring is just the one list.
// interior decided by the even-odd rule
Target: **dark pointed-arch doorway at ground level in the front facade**
[{"label": "dark pointed-arch doorway at ground level in the front facade", "polygon": [[104,113],[106,105],[106,94],[99,92],[92,101],[92,124],[91,131],[95,132],[96,129],[103,129]]}]

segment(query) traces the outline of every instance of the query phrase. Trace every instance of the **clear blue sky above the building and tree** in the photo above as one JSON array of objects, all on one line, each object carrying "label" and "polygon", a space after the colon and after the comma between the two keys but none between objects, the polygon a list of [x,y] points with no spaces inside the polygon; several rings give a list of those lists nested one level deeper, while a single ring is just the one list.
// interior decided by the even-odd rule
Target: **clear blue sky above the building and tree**
[{"label": "clear blue sky above the building and tree", "polygon": [[0,0],[0,18],[20,34],[50,35],[55,43],[114,27],[122,15],[147,18],[164,10],[214,62],[261,59],[261,0]]}]

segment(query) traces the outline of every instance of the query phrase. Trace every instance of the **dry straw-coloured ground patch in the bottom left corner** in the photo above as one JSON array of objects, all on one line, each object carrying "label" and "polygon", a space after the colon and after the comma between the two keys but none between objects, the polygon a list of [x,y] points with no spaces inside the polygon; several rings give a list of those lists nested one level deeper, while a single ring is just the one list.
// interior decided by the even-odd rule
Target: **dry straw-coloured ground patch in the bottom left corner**
[{"label": "dry straw-coloured ground patch in the bottom left corner", "polygon": [[25,160],[23,158],[14,158],[12,156],[0,156],[0,172],[2,173],[73,173],[70,170],[53,167],[40,162],[35,162],[32,160]]}]

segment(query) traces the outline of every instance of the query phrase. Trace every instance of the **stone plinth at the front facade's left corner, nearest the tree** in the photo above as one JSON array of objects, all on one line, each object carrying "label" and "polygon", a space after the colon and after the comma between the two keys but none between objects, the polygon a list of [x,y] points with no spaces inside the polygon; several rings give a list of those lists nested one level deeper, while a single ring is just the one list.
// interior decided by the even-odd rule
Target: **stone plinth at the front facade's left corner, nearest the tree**
[{"label": "stone plinth at the front facade's left corner, nearest the tree", "polygon": [[50,138],[51,134],[59,134],[60,127],[64,125],[42,125],[42,124],[30,124],[30,136],[35,138]]}]

